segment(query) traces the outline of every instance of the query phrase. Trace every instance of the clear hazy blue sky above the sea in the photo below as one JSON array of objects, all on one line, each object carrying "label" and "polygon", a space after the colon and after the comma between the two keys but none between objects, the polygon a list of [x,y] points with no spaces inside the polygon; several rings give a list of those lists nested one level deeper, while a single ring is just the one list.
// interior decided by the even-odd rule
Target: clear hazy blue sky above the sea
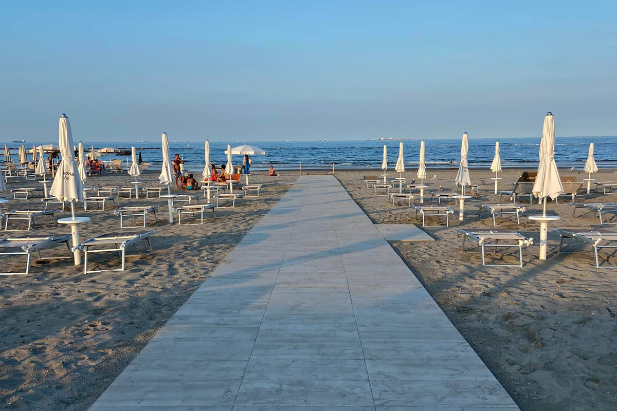
[{"label": "clear hazy blue sky above the sea", "polygon": [[614,0],[0,6],[3,141],[617,134]]}]

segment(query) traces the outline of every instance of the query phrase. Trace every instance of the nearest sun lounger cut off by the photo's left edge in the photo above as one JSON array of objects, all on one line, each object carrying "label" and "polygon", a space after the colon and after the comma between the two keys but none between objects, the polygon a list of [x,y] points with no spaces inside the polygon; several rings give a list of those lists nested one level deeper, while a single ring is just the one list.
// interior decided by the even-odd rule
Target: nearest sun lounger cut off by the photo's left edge
[{"label": "nearest sun lounger cut off by the photo's left edge", "polygon": [[[72,258],[71,248],[68,242],[71,239],[70,234],[60,235],[44,235],[38,237],[6,237],[0,239],[0,255],[26,255],[26,271],[25,272],[0,272],[0,275],[25,275],[30,272],[30,261],[33,251],[39,259],[52,259],[58,257],[41,257],[40,250],[43,248],[52,248],[56,245],[65,243],[68,249],[68,258]],[[11,250],[17,248],[18,250]],[[4,251],[9,250],[9,251]]]}]

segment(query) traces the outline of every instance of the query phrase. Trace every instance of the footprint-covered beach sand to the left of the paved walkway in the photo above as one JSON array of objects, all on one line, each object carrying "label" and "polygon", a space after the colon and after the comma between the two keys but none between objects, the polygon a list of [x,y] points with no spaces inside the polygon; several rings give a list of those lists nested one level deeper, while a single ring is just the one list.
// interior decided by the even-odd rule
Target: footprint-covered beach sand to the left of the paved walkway
[{"label": "footprint-covered beach sand to the left of the paved walkway", "polygon": [[[83,274],[83,265],[73,266],[72,261],[62,259],[37,261],[29,275],[0,276],[0,409],[87,409],[291,187],[284,183],[299,176],[266,177],[265,173],[255,173],[249,181],[264,184],[259,198],[247,199],[234,209],[218,209],[213,220],[208,211],[209,220],[203,226],[170,226],[167,200],[115,200],[115,206],[159,205],[158,221],[148,216],[147,226],[135,229],[157,230],[152,237],[154,255],[128,257],[124,272]],[[159,172],[151,171],[139,176],[139,181],[155,186],[158,176]],[[86,187],[128,185],[132,179],[125,173],[93,176]],[[23,186],[41,184],[7,185],[8,189]],[[128,231],[120,230],[115,206],[102,212],[79,208],[78,215],[92,219],[81,226],[81,237]],[[43,203],[40,197],[11,199],[9,207],[40,209]],[[66,216],[70,211],[56,214],[56,218]],[[30,232],[4,235],[70,232],[68,227],[54,227],[45,216],[40,223]],[[135,250],[145,251],[145,242]],[[67,249],[59,246],[42,253],[66,256]],[[97,254],[92,262],[89,269],[120,266],[117,254]],[[25,256],[3,256],[2,267],[3,271],[23,271]]]}]

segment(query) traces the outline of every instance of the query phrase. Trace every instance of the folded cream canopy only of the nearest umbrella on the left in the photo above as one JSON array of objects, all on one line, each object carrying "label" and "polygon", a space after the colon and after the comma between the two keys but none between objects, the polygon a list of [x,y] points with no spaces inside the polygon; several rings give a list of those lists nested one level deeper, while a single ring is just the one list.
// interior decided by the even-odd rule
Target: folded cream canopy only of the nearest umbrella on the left
[{"label": "folded cream canopy only of the nearest umbrella on the left", "polygon": [[75,164],[71,126],[65,114],[60,116],[59,146],[62,161],[60,161],[49,194],[51,197],[56,197],[58,201],[68,201],[69,203],[83,200],[83,184],[79,177],[77,164]]}]

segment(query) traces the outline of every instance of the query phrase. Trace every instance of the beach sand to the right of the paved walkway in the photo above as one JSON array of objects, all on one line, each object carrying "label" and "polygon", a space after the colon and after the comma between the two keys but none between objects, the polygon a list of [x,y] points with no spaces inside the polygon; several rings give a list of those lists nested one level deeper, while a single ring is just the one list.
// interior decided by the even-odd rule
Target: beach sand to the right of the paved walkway
[{"label": "beach sand to the right of the paved walkway", "polygon": [[[415,169],[404,177],[415,177]],[[535,170],[529,170],[535,171]],[[457,171],[431,170],[436,178],[425,180],[434,189],[440,185],[451,189]],[[500,227],[513,229],[534,238],[535,244],[524,249],[524,266],[483,267],[476,248],[463,253],[457,227],[493,227],[489,213],[478,222],[474,203],[498,202],[493,194],[491,171],[470,171],[472,182],[486,181],[480,196],[466,203],[465,221],[458,221],[455,211],[450,227],[426,227],[436,242],[392,242],[453,324],[470,342],[523,411],[609,410],[617,401],[617,269],[596,269],[590,247],[573,254],[557,255],[559,236],[549,232],[546,261],[539,256],[539,224],[526,216],[541,213],[534,204],[516,225],[514,216],[498,219]],[[508,169],[500,174],[500,189],[515,182],[520,170]],[[376,197],[362,181],[375,171],[340,171],[342,182],[358,205],[375,223],[413,223],[421,227],[421,218],[402,202],[392,206],[388,197]],[[389,177],[398,173],[390,172]],[[561,176],[587,174],[560,170]],[[616,181],[611,170],[601,170],[597,181]],[[593,187],[593,186],[592,186]],[[430,191],[430,190],[429,190]],[[430,196],[429,196],[430,197]],[[577,201],[617,201],[617,193],[584,195]],[[507,198],[503,198],[506,201]],[[577,211],[563,198],[555,206],[547,205],[547,214],[558,214],[555,227],[598,227],[592,214]],[[537,200],[536,200],[537,202]],[[528,205],[528,200],[519,203]],[[458,210],[458,206],[453,208]],[[611,222],[617,222],[608,214]],[[434,224],[433,221],[431,224]],[[441,222],[439,222],[441,224]],[[611,228],[611,226],[603,226]],[[471,246],[472,242],[467,242]],[[511,249],[515,250],[515,249]],[[494,255],[494,254],[492,254]],[[508,261],[516,261],[510,258]],[[503,261],[500,261],[503,262]],[[617,257],[610,258],[617,265]]]}]

